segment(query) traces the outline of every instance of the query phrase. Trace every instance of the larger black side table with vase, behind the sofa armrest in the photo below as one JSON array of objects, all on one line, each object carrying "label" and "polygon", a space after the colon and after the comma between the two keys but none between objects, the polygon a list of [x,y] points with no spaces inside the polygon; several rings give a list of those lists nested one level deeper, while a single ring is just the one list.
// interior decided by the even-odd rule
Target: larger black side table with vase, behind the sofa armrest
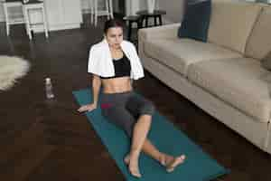
[{"label": "larger black side table with vase, behind the sofa armrest", "polygon": [[[145,20],[145,27],[148,27],[148,19],[154,18],[154,26],[156,25],[162,25],[162,15],[166,14],[166,11],[164,10],[154,10],[153,14],[148,13],[147,10],[142,10],[136,12],[136,14],[140,15],[142,17],[142,20]],[[159,20],[159,24],[157,24],[157,18]]]}]

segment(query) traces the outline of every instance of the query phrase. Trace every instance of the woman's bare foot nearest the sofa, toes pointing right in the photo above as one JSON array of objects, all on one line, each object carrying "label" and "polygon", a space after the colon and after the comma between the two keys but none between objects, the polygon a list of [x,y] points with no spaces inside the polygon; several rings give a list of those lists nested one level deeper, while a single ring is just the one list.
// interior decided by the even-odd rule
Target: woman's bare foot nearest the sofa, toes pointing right
[{"label": "woman's bare foot nearest the sofa, toes pointing right", "polygon": [[173,172],[175,167],[182,164],[184,160],[185,160],[184,155],[181,155],[179,157],[164,155],[164,157],[161,158],[160,162],[164,167],[166,167],[167,172]]}]

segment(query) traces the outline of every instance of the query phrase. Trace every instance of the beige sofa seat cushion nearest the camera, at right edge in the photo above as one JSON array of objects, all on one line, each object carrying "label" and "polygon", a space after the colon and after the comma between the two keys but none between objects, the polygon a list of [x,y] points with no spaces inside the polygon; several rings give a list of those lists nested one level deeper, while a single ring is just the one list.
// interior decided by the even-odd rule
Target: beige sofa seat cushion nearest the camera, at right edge
[{"label": "beige sofa seat cushion nearest the camera, at right edge", "polygon": [[259,61],[237,58],[198,62],[190,66],[188,79],[256,120],[269,120],[271,73]]}]

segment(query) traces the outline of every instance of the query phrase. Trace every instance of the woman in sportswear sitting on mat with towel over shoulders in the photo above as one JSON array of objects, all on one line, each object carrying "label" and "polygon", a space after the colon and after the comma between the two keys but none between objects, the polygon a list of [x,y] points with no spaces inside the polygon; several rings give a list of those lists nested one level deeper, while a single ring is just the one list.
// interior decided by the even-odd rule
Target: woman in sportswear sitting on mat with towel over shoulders
[{"label": "woman in sportswear sitting on mat with towel over shoulders", "polygon": [[104,40],[91,47],[88,69],[93,74],[93,102],[81,106],[79,112],[97,108],[98,92],[102,86],[102,115],[124,129],[131,138],[131,148],[124,161],[132,176],[141,176],[138,168],[141,151],[157,160],[168,172],[180,165],[184,155],[172,157],[162,153],[147,138],[154,105],[135,95],[132,80],[144,77],[144,69],[134,44],[123,40],[123,26],[117,20],[106,22]]}]

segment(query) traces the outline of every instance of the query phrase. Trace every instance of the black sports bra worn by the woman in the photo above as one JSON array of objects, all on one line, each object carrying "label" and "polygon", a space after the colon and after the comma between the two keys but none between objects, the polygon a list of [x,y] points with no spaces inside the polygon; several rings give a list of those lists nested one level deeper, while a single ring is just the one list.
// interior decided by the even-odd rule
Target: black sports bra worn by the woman
[{"label": "black sports bra worn by the woman", "polygon": [[130,77],[131,74],[131,64],[128,58],[126,57],[125,53],[123,53],[123,57],[115,60],[113,59],[114,69],[115,69],[115,76],[112,77],[101,77],[101,79],[111,79],[117,77]]}]

